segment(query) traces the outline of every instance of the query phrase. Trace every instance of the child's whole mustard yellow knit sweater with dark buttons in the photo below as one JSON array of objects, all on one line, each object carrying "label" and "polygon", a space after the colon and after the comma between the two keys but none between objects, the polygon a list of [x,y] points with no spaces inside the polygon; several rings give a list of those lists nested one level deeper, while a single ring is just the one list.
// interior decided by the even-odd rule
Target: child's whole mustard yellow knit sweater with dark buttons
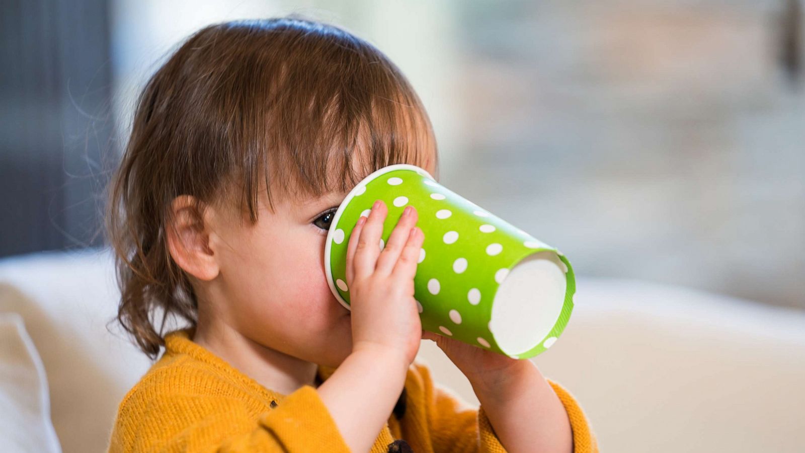
[{"label": "child's whole mustard yellow knit sweater with dark buttons", "polygon": [[[110,452],[349,451],[314,387],[305,385],[289,395],[266,389],[193,343],[192,335],[192,328],[166,335],[165,353],[118,407]],[[320,366],[317,382],[334,371]],[[580,405],[562,386],[548,382],[568,412],[574,451],[597,452]],[[434,385],[428,368],[415,361],[371,449],[395,451],[506,450],[482,406],[462,405]]]}]

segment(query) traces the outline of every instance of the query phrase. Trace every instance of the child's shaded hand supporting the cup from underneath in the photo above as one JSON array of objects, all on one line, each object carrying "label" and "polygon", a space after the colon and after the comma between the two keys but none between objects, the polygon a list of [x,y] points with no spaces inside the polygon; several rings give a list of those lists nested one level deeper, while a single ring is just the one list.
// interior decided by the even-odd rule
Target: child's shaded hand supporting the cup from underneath
[{"label": "child's shaded hand supporting the cup from underneath", "polygon": [[448,359],[467,376],[473,387],[495,389],[510,373],[518,372],[519,368],[530,364],[528,360],[512,359],[427,330],[422,331],[422,338],[435,341]]}]

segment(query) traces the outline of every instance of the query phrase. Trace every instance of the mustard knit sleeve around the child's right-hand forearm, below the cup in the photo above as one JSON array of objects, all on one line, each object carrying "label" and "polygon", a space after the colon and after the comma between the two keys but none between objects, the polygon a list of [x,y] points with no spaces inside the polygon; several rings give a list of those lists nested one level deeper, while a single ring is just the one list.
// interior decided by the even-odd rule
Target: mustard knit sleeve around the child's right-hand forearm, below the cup
[{"label": "mustard knit sleeve around the child's right-hand forearm, below the cup", "polygon": [[[427,366],[415,362],[421,376],[423,398],[434,451],[468,451],[477,453],[501,453],[506,449],[495,434],[492,423],[483,405],[470,409],[447,390],[433,383]],[[568,412],[573,431],[574,453],[598,453],[598,445],[588,420],[576,398],[567,389],[550,379],[559,401]]]}]

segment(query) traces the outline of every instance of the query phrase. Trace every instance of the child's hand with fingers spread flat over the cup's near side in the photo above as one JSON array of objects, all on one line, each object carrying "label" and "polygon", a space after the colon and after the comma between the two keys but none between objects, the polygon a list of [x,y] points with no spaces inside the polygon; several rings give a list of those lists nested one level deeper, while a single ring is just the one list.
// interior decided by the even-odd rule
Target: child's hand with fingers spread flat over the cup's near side
[{"label": "child's hand with fingers spread flat over the cup's near side", "polygon": [[[347,246],[346,277],[352,311],[353,352],[373,349],[414,361],[422,339],[414,299],[414,276],[424,234],[414,206],[403,213],[389,243],[380,250],[386,203],[378,200],[369,218],[361,216]],[[411,235],[409,235],[411,233]]]}]

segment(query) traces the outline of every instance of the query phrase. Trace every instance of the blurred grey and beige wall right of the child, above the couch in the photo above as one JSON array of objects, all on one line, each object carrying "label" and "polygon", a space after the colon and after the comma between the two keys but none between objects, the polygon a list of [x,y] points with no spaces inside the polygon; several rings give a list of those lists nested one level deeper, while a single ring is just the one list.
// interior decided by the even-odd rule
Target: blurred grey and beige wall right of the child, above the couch
[{"label": "blurred grey and beige wall right of the child, above the couch", "polygon": [[448,185],[581,275],[805,308],[799,2],[453,4]]}]

